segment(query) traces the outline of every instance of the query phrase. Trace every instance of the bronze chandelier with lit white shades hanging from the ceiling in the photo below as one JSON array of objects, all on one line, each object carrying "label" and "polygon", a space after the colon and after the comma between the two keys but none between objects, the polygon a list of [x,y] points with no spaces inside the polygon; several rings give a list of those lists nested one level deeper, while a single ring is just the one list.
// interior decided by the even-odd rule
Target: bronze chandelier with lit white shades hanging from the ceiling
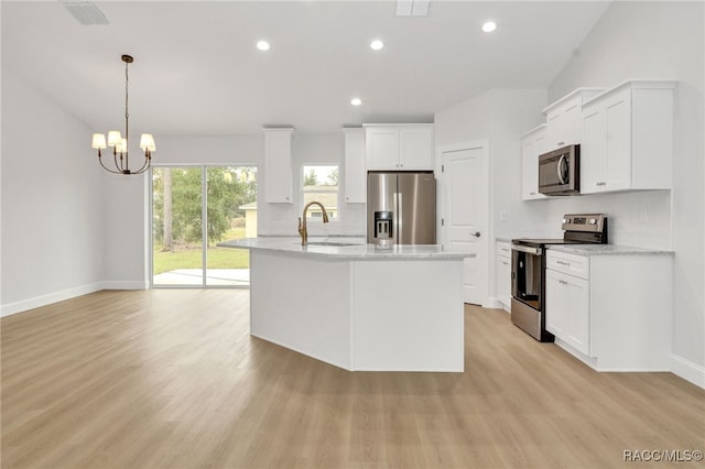
[{"label": "bronze chandelier with lit white shades hanging from the ceiling", "polygon": [[[144,163],[138,171],[130,171],[130,162],[128,156],[128,132],[130,112],[128,112],[128,65],[130,65],[134,58],[131,55],[123,55],[122,62],[124,62],[124,138],[120,134],[119,130],[111,130],[108,132],[108,144],[106,145],[106,135],[104,133],[93,134],[93,148],[98,149],[98,162],[100,165],[115,174],[142,174],[150,167],[152,161],[152,152],[156,151],[154,144],[154,137],[151,133],[143,133],[140,138],[140,149],[144,152]],[[102,162],[102,154],[100,150],[105,150],[108,146],[112,146],[112,160],[115,162],[115,170],[107,167]]]}]

